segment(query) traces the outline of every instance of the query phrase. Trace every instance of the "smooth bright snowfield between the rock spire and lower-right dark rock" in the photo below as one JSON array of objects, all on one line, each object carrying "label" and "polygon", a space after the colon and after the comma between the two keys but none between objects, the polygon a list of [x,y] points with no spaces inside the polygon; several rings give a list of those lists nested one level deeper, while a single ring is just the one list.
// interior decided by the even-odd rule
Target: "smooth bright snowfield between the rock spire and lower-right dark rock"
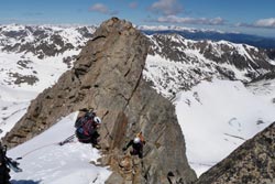
[{"label": "smooth bright snowfield between the rock spire and lower-right dark rock", "polygon": [[198,175],[275,121],[275,80],[264,84],[205,80],[177,95],[187,159]]}]

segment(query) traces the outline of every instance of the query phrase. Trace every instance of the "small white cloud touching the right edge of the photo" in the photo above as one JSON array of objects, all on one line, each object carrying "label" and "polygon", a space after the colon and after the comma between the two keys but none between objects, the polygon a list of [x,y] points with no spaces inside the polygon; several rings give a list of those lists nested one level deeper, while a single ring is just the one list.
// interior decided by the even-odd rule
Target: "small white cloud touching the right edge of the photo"
[{"label": "small white cloud touching the right edge of the photo", "polygon": [[237,26],[275,29],[275,18],[260,19],[254,23],[238,23]]}]

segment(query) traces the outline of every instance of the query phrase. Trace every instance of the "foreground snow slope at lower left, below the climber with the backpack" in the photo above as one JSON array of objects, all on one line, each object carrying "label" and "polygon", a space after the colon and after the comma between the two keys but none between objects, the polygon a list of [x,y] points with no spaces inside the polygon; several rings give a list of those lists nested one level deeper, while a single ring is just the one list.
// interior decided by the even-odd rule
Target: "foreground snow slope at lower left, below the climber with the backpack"
[{"label": "foreground snow slope at lower left, below the climber with the backpack", "polygon": [[59,122],[34,139],[10,150],[8,156],[19,158],[21,173],[11,172],[12,183],[41,184],[103,184],[111,174],[107,167],[96,166],[100,154],[90,144],[77,141],[57,143],[74,134],[77,112],[63,118]]}]

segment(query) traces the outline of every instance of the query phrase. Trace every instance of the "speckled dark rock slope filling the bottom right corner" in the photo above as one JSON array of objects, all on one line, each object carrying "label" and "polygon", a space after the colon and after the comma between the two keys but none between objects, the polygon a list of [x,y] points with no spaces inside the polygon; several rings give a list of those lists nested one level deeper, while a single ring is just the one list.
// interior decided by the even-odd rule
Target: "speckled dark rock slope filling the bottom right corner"
[{"label": "speckled dark rock slope filling the bottom right corner", "polygon": [[275,122],[202,174],[196,184],[274,184]]}]

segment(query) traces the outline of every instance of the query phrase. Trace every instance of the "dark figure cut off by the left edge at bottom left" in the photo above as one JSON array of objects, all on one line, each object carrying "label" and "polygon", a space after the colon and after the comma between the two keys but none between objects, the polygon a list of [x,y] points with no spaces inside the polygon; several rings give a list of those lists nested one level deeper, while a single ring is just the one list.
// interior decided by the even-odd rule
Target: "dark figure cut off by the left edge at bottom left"
[{"label": "dark figure cut off by the left edge at bottom left", "polygon": [[10,184],[10,169],[6,164],[6,148],[0,142],[0,184]]}]

